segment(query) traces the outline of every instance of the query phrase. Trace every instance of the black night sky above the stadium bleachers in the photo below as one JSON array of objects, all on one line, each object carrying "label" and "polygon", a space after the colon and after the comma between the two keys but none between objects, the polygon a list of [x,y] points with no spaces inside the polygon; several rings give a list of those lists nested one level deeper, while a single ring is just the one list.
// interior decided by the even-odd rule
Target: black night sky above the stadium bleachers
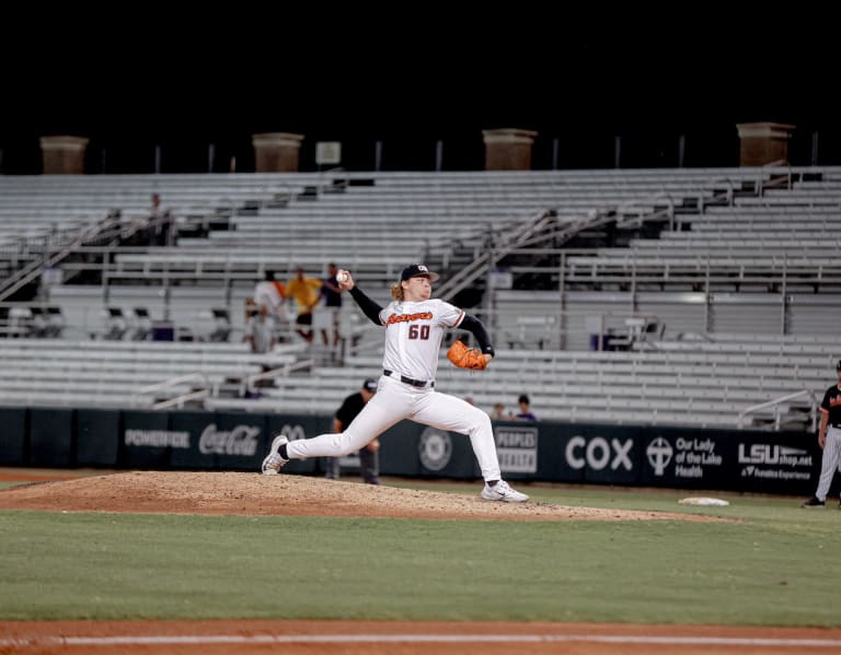
[{"label": "black night sky above the stadium bleachers", "polygon": [[100,15],[101,26],[79,13],[21,23],[3,46],[4,169],[24,165],[21,153],[47,133],[87,136],[112,153],[211,141],[233,151],[261,131],[345,142],[480,139],[498,127],[669,139],[753,120],[831,131],[841,115],[838,56],[815,16],[708,9],[655,25],[641,11],[571,19],[564,5],[447,9],[446,21],[447,5],[420,16],[324,8],[181,17],[160,7]]}]

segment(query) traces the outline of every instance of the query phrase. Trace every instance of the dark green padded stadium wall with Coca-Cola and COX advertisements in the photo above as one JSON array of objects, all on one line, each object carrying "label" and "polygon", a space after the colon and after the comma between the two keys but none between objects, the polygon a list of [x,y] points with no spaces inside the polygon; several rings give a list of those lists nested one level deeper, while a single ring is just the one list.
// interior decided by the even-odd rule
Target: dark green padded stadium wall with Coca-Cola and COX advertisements
[{"label": "dark green padded stadium wall with Coca-Cola and COX advertisements", "polygon": [[[196,410],[2,408],[0,465],[57,468],[258,471],[272,437],[310,438],[332,417]],[[509,480],[807,494],[820,448],[807,432],[494,422]],[[380,472],[477,479],[466,437],[403,421],[387,431]],[[320,475],[320,459],[285,472]],[[358,472],[358,458],[343,458]]]}]

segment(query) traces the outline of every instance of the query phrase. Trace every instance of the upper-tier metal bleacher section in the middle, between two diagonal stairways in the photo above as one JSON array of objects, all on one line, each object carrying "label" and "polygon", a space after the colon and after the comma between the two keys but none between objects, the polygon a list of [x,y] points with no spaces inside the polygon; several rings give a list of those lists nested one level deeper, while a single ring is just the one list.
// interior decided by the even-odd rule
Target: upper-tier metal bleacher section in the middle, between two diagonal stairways
[{"label": "upper-tier metal bleacher section in the middle, between two diagonal stairways", "polygon": [[622,206],[638,215],[656,202],[711,200],[735,184],[728,177],[716,186],[722,175],[739,182],[757,173],[341,173],[320,179],[287,174],[301,192],[235,211],[226,230],[210,231],[207,238],[117,254],[108,274],[254,280],[266,268],[290,274],[296,266],[320,269],[334,260],[360,280],[394,279],[407,260],[425,259],[454,242],[481,247],[493,232],[550,209],[574,222]]}]

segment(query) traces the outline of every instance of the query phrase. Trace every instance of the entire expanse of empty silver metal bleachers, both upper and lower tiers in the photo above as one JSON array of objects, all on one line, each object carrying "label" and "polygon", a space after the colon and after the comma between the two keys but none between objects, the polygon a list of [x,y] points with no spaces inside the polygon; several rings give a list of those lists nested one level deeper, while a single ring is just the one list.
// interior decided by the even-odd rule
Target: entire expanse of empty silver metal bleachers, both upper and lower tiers
[{"label": "entire expanse of empty silver metal bleachers, both upper and lower tiers", "polygon": [[[207,409],[332,413],[337,398],[379,375],[382,335],[348,302],[341,366],[315,361],[245,397],[264,365],[311,354],[293,334],[268,361],[240,342],[245,299],[265,270],[288,279],[298,266],[322,274],[335,261],[384,304],[406,264],[446,266],[457,249],[479,256],[546,213],[585,230],[604,218],[623,227],[656,219],[663,229],[612,247],[553,244],[529,256],[527,246],[516,261],[496,261],[511,288],[486,286],[470,311],[488,326],[497,356],[471,374],[442,352],[440,390],[487,410],[528,393],[546,420],[701,428],[734,428],[752,406],[807,391],[750,414],[756,425],[779,426],[781,412],[803,425],[809,394],[826,386],[839,356],[838,169],[55,177],[0,177],[10,234],[36,211],[45,225],[143,215],[158,192],[178,238],[82,247],[66,261],[65,282],[46,299],[62,312],[64,338],[0,339],[3,405],[154,407],[200,390]],[[96,281],[84,282],[91,271]],[[110,311],[130,320],[139,308],[189,340],[134,341],[128,329],[103,338]],[[210,338],[214,308],[231,317],[228,342]]]}]

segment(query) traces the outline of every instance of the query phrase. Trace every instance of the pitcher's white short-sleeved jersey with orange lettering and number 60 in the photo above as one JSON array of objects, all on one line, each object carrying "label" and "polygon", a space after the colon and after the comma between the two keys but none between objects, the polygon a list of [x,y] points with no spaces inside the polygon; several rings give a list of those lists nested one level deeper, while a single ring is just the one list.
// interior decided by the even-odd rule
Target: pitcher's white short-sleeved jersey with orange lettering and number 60
[{"label": "pitcher's white short-sleeved jersey with orange lettering and number 60", "polygon": [[463,318],[464,312],[437,299],[390,303],[380,312],[385,326],[382,367],[413,379],[435,379],[443,332]]}]

